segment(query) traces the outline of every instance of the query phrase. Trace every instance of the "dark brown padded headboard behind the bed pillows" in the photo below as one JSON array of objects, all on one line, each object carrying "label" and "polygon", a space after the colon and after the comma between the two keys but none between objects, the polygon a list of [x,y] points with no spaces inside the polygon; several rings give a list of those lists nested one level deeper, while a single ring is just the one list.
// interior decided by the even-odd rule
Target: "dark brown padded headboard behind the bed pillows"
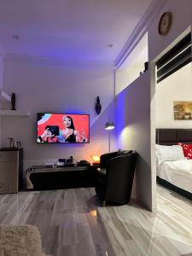
[{"label": "dark brown padded headboard behind the bed pillows", "polygon": [[192,143],[192,129],[156,129],[156,143],[160,145]]}]

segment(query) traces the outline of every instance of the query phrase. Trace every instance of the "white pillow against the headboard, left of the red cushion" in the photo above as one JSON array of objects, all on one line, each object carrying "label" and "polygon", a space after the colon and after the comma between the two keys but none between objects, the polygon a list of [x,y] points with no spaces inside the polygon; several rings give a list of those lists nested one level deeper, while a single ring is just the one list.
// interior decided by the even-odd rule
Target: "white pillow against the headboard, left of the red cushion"
[{"label": "white pillow against the headboard, left of the red cushion", "polygon": [[165,161],[185,160],[183,148],[179,145],[164,146],[156,144],[155,149],[159,164]]}]

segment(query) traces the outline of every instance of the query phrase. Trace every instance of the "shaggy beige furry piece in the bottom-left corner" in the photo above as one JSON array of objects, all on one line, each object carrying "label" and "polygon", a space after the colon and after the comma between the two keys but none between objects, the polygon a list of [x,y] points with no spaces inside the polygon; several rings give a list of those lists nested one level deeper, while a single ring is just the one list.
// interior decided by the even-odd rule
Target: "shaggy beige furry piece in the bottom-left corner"
[{"label": "shaggy beige furry piece in the bottom-left corner", "polygon": [[32,225],[0,225],[0,256],[46,256],[41,235]]}]

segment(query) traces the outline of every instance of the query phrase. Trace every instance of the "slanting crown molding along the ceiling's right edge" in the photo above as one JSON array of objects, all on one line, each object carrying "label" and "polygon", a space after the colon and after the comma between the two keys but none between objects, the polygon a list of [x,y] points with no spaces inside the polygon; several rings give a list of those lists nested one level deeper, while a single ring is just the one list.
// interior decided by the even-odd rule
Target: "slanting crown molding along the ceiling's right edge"
[{"label": "slanting crown molding along the ceiling's right edge", "polygon": [[168,0],[152,0],[152,3],[148,6],[148,9],[144,13],[142,19],[139,21],[130,38],[125,43],[123,49],[121,49],[119,55],[114,61],[114,66],[119,68],[131,54],[131,51],[137,46],[138,42],[143,38],[144,34],[148,32],[149,24],[154,20],[154,18],[159,14],[160,9],[166,4]]}]

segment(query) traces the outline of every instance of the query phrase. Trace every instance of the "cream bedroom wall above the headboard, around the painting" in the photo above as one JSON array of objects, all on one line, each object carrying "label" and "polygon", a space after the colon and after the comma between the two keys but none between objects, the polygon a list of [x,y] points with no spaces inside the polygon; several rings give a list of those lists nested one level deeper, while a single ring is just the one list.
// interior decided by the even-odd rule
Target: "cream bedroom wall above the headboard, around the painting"
[{"label": "cream bedroom wall above the headboard, around the painting", "polygon": [[192,102],[191,63],[156,86],[156,127],[191,128],[192,120],[175,120],[173,102]]}]

